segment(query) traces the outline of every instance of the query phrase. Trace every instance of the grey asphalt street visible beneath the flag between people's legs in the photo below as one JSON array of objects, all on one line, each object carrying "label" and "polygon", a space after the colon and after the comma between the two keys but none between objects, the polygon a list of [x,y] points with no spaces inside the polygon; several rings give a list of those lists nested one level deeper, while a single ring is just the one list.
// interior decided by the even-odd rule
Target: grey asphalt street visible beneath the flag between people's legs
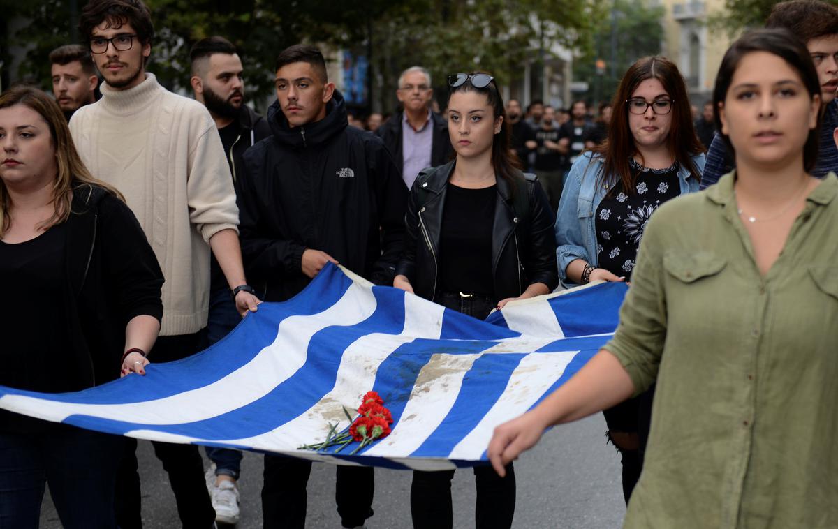
[{"label": "grey asphalt street visible beneath the flag between people's legs", "polygon": [[[601,414],[567,424],[545,434],[535,449],[515,463],[518,495],[514,526],[530,528],[608,529],[619,527],[625,513],[620,488],[618,455],[605,444]],[[203,449],[201,450],[203,452]],[[146,529],[180,527],[174,496],[163,466],[154,457],[151,444],[138,449],[142,462],[142,516]],[[246,453],[243,460],[241,521],[238,529],[261,528],[260,455]],[[369,529],[401,529],[411,526],[411,473],[405,470],[375,470],[375,516]],[[474,475],[458,470],[452,486],[454,527],[474,526]],[[308,481],[308,521],[314,529],[339,529],[334,508],[334,466],[315,464]],[[49,493],[44,497],[41,527],[59,529]]]}]

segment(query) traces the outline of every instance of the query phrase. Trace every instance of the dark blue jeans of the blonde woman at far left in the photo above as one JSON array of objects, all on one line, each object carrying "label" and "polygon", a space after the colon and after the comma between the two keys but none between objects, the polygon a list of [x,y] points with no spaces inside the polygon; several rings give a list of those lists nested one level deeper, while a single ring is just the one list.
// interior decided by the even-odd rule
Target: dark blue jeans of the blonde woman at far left
[{"label": "dark blue jeans of the blonde woman at far left", "polygon": [[0,527],[36,529],[46,483],[66,529],[116,527],[113,491],[122,438],[38,423],[30,434],[0,433]]}]

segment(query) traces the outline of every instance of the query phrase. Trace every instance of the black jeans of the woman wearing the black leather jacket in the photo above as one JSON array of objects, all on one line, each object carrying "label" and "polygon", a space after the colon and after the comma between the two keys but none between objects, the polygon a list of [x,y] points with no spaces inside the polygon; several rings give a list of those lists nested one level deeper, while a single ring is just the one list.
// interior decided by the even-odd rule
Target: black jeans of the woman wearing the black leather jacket
[{"label": "black jeans of the woman wearing the black leather jacket", "polygon": [[[487,295],[437,293],[438,304],[484,320],[497,304]],[[414,529],[444,529],[453,526],[451,480],[454,470],[413,472],[411,518]],[[478,529],[507,529],[515,516],[515,469],[506,466],[501,478],[491,466],[474,467],[477,502],[474,521]]]}]

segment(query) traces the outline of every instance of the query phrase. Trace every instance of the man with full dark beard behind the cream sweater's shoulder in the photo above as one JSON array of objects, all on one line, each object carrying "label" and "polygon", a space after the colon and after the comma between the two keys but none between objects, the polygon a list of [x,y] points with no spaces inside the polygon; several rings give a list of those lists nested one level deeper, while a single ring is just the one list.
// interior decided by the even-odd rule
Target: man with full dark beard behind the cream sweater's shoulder
[{"label": "man with full dark beard behind the cream sweater's shoulder", "polygon": [[[241,172],[241,157],[256,141],[271,136],[271,127],[244,104],[245,83],[241,59],[235,46],[224,37],[199,40],[189,52],[192,78],[189,80],[195,99],[207,107],[215,120],[224,146],[227,163],[235,182]],[[207,345],[218,342],[233,330],[241,316],[230,298],[227,280],[215,257],[209,261],[209,320],[206,326]],[[239,521],[239,490],[241,451],[205,447],[213,465],[207,470],[207,488],[215,508],[215,521],[235,524]]]}]

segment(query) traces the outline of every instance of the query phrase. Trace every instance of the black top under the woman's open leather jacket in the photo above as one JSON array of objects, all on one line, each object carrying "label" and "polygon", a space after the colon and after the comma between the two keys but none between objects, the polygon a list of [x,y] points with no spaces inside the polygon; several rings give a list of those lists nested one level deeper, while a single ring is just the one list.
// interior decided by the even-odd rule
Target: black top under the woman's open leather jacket
[{"label": "black top under the woman's open leather jacket", "polygon": [[466,189],[448,183],[439,236],[442,292],[489,295],[494,299],[492,231],[498,189]]}]

